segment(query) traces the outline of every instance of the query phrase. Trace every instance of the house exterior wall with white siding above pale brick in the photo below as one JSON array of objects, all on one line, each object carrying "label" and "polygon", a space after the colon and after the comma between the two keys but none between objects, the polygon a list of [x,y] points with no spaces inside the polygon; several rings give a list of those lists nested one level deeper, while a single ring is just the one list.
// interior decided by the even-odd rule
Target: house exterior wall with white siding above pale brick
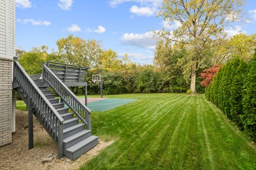
[{"label": "house exterior wall with white siding above pale brick", "polygon": [[11,143],[12,132],[15,131],[12,90],[14,37],[15,2],[0,0],[0,146]]}]

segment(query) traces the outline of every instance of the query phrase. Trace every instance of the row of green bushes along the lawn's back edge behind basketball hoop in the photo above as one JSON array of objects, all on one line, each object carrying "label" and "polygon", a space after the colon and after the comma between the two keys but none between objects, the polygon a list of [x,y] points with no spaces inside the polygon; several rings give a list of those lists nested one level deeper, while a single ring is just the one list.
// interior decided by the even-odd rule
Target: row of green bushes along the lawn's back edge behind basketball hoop
[{"label": "row of green bushes along the lawn's back edge behind basketball hoop", "polygon": [[[189,83],[182,74],[169,75],[155,72],[153,68],[144,68],[130,72],[94,69],[90,70],[86,76],[86,82],[88,82],[87,94],[89,95],[100,93],[99,83],[92,82],[93,74],[101,74],[103,95],[156,92],[180,93],[186,92],[189,89]],[[204,87],[200,85],[201,81],[198,78],[198,92],[204,92]],[[83,87],[71,88],[71,90],[75,94],[84,94]]]}]

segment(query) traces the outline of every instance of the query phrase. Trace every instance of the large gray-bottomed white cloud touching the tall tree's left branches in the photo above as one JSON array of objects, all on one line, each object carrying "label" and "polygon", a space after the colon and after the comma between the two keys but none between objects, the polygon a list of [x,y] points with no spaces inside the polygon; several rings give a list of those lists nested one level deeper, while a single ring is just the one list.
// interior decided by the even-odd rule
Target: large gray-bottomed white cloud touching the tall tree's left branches
[{"label": "large gray-bottomed white cloud touching the tall tree's left branches", "polygon": [[125,45],[136,46],[140,48],[155,49],[156,40],[154,39],[154,32],[148,31],[146,33],[125,33],[121,37],[121,42]]}]

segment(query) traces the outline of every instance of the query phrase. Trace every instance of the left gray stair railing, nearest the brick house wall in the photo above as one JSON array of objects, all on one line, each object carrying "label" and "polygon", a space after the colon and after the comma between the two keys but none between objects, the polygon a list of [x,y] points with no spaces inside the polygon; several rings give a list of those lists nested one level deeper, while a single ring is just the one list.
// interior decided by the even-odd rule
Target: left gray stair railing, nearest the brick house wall
[{"label": "left gray stair railing, nearest the brick house wall", "polygon": [[31,101],[34,114],[41,120],[45,130],[52,136],[54,141],[58,141],[59,158],[63,157],[63,118],[52,106],[43,92],[36,86],[35,82],[23,69],[17,58],[13,64],[13,82],[17,83],[24,96]]}]

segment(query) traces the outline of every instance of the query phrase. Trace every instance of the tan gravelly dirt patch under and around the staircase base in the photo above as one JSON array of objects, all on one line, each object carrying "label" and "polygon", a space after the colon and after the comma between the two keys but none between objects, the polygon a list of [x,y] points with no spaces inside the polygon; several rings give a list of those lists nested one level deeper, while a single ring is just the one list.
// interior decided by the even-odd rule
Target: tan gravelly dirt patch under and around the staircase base
[{"label": "tan gravelly dirt patch under and around the staircase base", "polygon": [[[28,150],[28,113],[16,112],[16,132],[12,135],[11,145],[0,148],[0,169],[77,169],[100,150],[114,141],[103,141],[74,161],[65,157],[58,159],[58,146],[51,139],[43,126],[34,117],[34,148]],[[42,163],[42,159],[53,154],[51,163]]]}]

